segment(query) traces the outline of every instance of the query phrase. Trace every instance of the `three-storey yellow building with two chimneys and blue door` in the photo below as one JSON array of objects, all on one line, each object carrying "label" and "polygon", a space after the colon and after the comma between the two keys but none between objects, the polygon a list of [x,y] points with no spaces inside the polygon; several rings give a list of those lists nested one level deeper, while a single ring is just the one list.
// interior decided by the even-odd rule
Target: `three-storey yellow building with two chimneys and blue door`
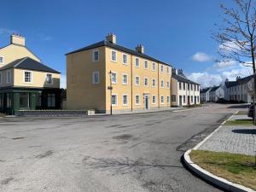
[{"label": "three-storey yellow building with two chimneys and blue door", "polygon": [[98,113],[171,107],[172,67],[116,44],[116,36],[67,53],[67,108]]}]

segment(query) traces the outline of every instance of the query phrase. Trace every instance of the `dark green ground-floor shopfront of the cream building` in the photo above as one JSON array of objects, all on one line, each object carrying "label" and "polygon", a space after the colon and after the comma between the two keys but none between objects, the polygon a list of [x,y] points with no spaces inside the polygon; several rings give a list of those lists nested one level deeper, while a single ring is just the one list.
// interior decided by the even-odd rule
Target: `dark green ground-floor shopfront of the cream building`
[{"label": "dark green ground-floor shopfront of the cream building", "polygon": [[60,89],[0,89],[0,113],[15,115],[19,110],[59,108]]}]

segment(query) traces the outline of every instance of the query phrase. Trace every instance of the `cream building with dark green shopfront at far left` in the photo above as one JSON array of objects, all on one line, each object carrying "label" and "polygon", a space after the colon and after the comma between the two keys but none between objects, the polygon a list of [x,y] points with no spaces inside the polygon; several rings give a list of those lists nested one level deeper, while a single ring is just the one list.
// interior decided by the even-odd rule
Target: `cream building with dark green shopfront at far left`
[{"label": "cream building with dark green shopfront at far left", "polygon": [[0,49],[0,112],[60,108],[60,73],[42,64],[25,38],[10,37]]}]

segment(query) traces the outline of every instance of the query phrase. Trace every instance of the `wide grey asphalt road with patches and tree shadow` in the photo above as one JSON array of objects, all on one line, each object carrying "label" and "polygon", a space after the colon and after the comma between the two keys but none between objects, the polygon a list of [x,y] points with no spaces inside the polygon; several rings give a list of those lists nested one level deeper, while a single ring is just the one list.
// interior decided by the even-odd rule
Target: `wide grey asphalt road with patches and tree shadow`
[{"label": "wide grey asphalt road with patches and tree shadow", "polygon": [[0,119],[0,191],[220,191],[180,158],[237,109]]}]

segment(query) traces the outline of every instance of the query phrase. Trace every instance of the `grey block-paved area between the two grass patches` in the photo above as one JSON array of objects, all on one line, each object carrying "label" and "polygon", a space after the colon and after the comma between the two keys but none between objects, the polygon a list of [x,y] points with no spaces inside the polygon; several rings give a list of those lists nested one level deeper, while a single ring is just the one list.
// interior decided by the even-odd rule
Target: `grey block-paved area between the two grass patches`
[{"label": "grey block-paved area between the two grass patches", "polygon": [[[230,120],[248,119],[247,115],[234,115]],[[199,150],[229,152],[233,154],[256,154],[256,126],[223,125],[203,143]]]}]

